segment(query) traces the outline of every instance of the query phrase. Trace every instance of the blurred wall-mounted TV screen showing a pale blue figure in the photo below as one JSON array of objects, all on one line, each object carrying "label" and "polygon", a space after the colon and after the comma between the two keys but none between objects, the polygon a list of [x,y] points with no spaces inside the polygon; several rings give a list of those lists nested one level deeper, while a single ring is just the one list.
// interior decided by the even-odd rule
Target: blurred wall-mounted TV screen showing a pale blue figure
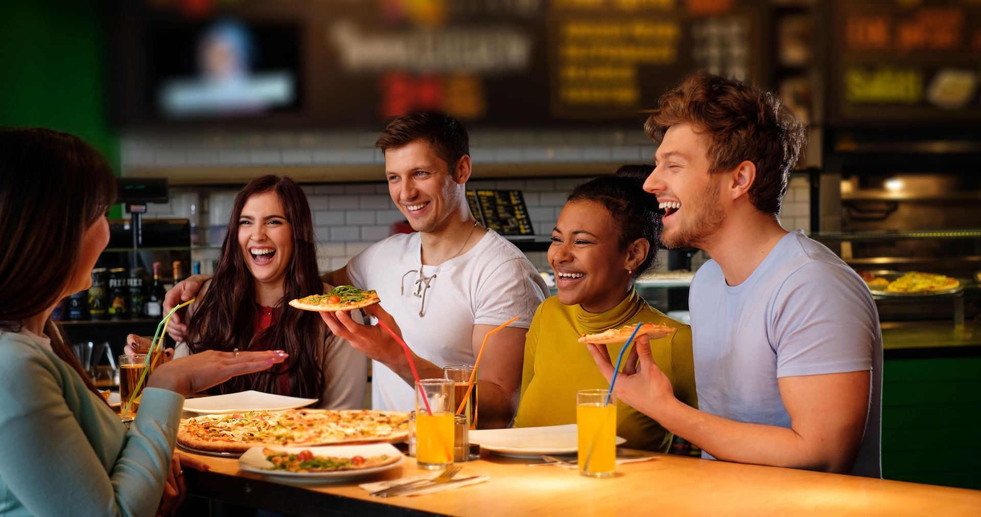
[{"label": "blurred wall-mounted TV screen showing a pale blue figure", "polygon": [[141,2],[114,12],[114,119],[122,128],[292,125],[309,117],[302,18],[188,18]]}]

